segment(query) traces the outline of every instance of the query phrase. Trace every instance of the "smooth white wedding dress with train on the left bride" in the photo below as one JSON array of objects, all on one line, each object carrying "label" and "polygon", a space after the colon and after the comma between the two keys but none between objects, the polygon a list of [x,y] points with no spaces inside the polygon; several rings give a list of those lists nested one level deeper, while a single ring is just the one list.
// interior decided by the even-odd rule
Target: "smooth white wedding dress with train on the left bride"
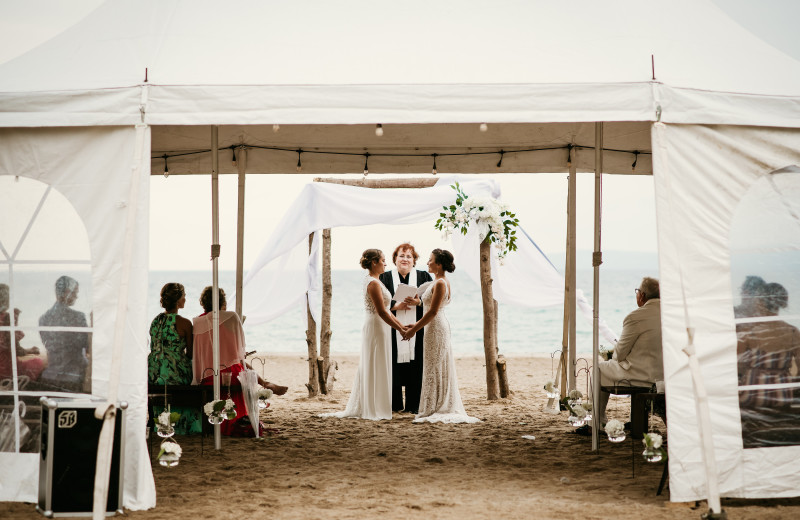
[{"label": "smooth white wedding dress with train on the left bride", "polygon": [[361,360],[358,364],[350,400],[342,412],[323,413],[320,417],[352,417],[379,421],[392,418],[392,337],[391,327],[381,319],[367,294],[370,283],[377,283],[387,310],[392,301],[388,289],[376,278],[364,280],[366,316],[361,336]]}]

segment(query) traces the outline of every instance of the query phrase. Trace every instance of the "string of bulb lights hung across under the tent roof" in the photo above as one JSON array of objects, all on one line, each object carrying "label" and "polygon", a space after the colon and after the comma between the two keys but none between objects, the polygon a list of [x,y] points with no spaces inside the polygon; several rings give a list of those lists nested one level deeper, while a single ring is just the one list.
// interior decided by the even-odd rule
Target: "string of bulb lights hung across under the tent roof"
[{"label": "string of bulb lights hung across under the tent roof", "polygon": [[[273,130],[277,131],[276,128],[280,128],[279,125],[273,125]],[[481,131],[483,130],[483,125],[481,125]],[[383,127],[382,125],[377,125],[375,128],[375,135],[378,137],[383,135]],[[236,164],[236,149],[260,149],[260,150],[273,150],[279,152],[290,152],[297,154],[297,172],[303,171],[303,154],[326,154],[326,155],[347,155],[351,157],[363,157],[364,158],[364,175],[369,174],[369,159],[370,157],[430,157],[433,161],[431,166],[431,173],[436,175],[439,173],[438,166],[436,164],[436,159],[439,157],[453,157],[453,156],[469,156],[469,155],[492,155],[497,154],[500,156],[500,160],[497,161],[497,167],[500,168],[503,165],[503,157],[506,154],[519,154],[519,153],[533,153],[533,152],[544,152],[544,151],[552,151],[552,150],[566,150],[567,151],[567,166],[571,166],[572,164],[572,150],[583,149],[583,150],[594,150],[593,146],[583,146],[583,145],[576,145],[576,144],[566,144],[562,146],[550,146],[546,148],[522,148],[522,149],[515,149],[515,150],[491,150],[491,151],[480,151],[480,152],[473,152],[473,151],[465,151],[465,152],[433,152],[433,153],[393,153],[393,152],[378,152],[378,153],[371,153],[369,151],[364,152],[345,152],[345,151],[337,151],[337,150],[307,150],[303,148],[288,148],[288,147],[281,147],[281,146],[264,146],[264,145],[250,145],[250,144],[235,144],[231,146],[225,146],[219,148],[219,151],[230,149],[231,151],[231,161],[233,164]],[[616,153],[628,153],[633,156],[633,163],[631,164],[631,170],[636,171],[636,164],[639,161],[639,155],[651,155],[652,152],[647,151],[640,151],[640,150],[618,150],[614,148],[603,148],[604,152],[616,152]],[[203,149],[203,150],[192,150],[189,152],[174,152],[174,153],[164,153],[158,154],[151,157],[151,159],[164,159],[164,177],[169,176],[169,163],[168,160],[172,157],[184,157],[188,155],[198,155],[203,153],[211,153],[211,149]]]}]

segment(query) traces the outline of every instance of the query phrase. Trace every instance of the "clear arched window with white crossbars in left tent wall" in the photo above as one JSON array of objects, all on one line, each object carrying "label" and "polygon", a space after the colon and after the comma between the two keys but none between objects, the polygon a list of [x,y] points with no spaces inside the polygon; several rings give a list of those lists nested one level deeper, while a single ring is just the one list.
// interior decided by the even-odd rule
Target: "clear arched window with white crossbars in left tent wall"
[{"label": "clear arched window with white crossbars in left tent wall", "polygon": [[42,395],[91,393],[91,254],[57,189],[0,176],[0,451],[37,452]]}]

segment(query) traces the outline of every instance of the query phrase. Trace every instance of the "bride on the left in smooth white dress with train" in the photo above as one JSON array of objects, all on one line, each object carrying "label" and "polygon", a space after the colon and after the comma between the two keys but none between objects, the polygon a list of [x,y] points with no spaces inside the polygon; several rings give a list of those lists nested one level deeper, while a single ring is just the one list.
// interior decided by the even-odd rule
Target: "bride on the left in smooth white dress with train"
[{"label": "bride on the left in smooth white dress with train", "polygon": [[361,267],[368,270],[364,279],[366,316],[361,338],[361,360],[353,391],[344,411],[323,413],[320,417],[353,417],[379,421],[392,418],[392,337],[391,327],[404,327],[389,312],[392,295],[378,276],[386,269],[386,258],[379,249],[361,255]]}]

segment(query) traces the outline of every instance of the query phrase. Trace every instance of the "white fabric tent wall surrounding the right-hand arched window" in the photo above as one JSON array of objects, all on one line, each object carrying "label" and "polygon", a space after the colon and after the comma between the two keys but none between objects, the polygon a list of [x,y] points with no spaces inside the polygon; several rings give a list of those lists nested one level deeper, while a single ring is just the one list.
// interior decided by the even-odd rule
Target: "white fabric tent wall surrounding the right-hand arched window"
[{"label": "white fabric tent wall surrounding the right-hand arched window", "polygon": [[681,350],[690,326],[709,394],[721,495],[797,496],[800,446],[743,448],[729,236],[750,186],[800,164],[800,129],[656,124],[653,160],[670,500],[707,496],[695,395]]}]

